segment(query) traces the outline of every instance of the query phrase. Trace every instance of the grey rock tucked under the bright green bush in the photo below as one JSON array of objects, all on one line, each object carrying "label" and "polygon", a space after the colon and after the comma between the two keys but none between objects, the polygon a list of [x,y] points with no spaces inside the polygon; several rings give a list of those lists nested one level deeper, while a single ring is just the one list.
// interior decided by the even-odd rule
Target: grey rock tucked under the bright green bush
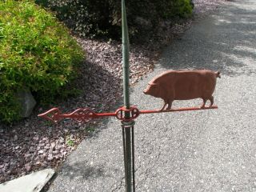
[{"label": "grey rock tucked under the bright green bush", "polygon": [[22,110],[20,112],[22,118],[29,117],[36,104],[36,101],[34,100],[30,90],[19,90],[16,94],[16,97],[22,106]]}]

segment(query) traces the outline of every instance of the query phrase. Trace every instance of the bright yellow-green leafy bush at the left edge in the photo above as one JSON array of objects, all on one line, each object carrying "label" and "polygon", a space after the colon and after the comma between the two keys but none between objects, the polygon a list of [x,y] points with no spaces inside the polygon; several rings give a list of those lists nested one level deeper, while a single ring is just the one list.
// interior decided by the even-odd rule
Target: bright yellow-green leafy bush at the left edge
[{"label": "bright yellow-green leafy bush at the left edge", "polygon": [[19,118],[15,94],[29,89],[52,102],[77,74],[84,55],[53,14],[29,0],[0,2],[0,120]]}]

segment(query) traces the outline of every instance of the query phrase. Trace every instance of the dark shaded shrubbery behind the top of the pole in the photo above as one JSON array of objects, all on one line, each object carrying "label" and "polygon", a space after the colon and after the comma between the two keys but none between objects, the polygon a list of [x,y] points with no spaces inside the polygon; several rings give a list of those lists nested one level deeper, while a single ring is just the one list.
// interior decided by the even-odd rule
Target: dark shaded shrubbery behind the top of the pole
[{"label": "dark shaded shrubbery behind the top of the pole", "polygon": [[[154,30],[163,18],[187,18],[192,14],[191,0],[126,1],[130,34]],[[82,37],[120,38],[121,0],[36,0],[56,11],[58,18]]]}]

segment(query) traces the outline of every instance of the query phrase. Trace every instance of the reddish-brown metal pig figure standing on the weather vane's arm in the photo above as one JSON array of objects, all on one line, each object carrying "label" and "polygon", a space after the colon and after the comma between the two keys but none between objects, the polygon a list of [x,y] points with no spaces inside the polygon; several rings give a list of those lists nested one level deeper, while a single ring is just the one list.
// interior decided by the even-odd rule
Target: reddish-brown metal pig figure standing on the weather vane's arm
[{"label": "reddish-brown metal pig figure standing on the weather vane's arm", "polygon": [[161,110],[170,110],[174,100],[194,98],[202,98],[204,108],[207,100],[214,104],[216,78],[221,78],[220,72],[212,70],[168,70],[153,78],[143,93],[162,98]]}]

